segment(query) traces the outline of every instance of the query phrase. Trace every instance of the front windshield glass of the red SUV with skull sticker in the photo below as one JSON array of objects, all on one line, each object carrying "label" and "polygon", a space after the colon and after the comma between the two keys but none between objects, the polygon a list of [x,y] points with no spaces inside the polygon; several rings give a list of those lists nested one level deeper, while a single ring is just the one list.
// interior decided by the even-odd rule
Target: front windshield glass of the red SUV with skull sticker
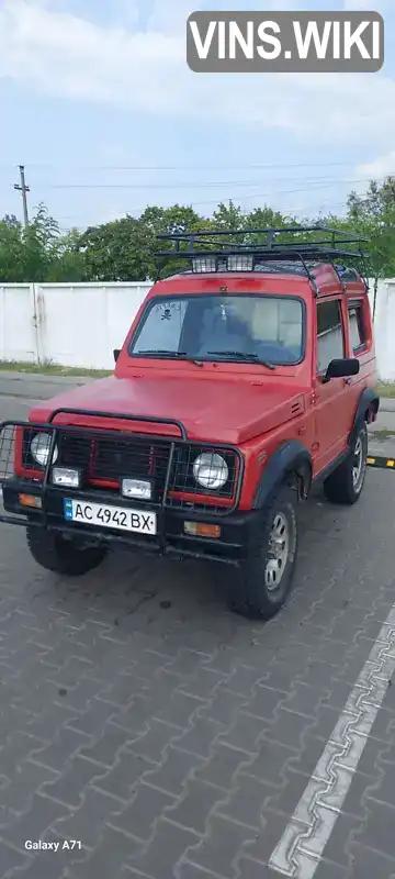
[{"label": "front windshield glass of the red SUV with skull sticker", "polygon": [[247,359],[275,365],[303,358],[300,299],[285,296],[185,296],[153,299],[129,354],[190,359]]}]

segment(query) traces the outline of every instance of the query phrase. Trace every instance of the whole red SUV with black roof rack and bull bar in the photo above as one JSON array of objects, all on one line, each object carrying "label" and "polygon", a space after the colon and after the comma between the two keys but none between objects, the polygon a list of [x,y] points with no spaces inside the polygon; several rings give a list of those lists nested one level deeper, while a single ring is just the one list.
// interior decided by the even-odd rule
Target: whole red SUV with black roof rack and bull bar
[{"label": "whole red SUV with black roof rack and bull bar", "polygon": [[114,375],[1,425],[1,519],[68,576],[120,542],[221,561],[230,607],[269,619],[292,585],[298,503],[321,482],[352,504],[364,483],[376,360],[366,283],[343,265],[362,240],[160,237],[187,270],[153,286]]}]

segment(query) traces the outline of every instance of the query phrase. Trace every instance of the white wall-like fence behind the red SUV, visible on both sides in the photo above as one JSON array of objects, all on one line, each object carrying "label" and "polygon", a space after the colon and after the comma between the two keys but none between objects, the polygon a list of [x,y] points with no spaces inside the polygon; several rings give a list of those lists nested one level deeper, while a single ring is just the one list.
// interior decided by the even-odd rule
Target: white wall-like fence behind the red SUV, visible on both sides
[{"label": "white wall-like fence behind the red SUV, visible on both sides", "polygon": [[[0,360],[113,369],[150,283],[0,285]],[[370,301],[373,305],[374,285]],[[395,279],[380,281],[374,334],[380,377],[395,380]]]}]

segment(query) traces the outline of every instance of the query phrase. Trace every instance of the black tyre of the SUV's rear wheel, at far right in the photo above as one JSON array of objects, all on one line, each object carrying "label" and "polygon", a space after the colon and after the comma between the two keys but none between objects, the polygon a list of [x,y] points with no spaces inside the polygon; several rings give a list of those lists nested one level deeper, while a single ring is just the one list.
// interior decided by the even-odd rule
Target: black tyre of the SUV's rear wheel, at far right
[{"label": "black tyre of the SUV's rear wheel, at far right", "polygon": [[[356,463],[356,450],[361,448],[361,472],[358,481],[354,481],[353,470]],[[334,470],[324,483],[325,497],[331,503],[353,504],[361,497],[366,476],[368,457],[368,430],[365,421],[361,422],[356,429],[350,453],[346,460]]]}]

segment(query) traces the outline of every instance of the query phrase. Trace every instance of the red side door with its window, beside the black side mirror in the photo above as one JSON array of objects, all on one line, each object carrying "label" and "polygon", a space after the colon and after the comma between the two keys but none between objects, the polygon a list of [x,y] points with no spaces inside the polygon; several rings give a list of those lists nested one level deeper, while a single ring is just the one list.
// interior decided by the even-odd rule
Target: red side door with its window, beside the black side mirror
[{"label": "red side door with its window, beside the black side mirror", "polygon": [[350,431],[350,380],[323,378],[335,358],[347,357],[345,320],[339,297],[317,300],[313,410],[315,474],[324,470],[346,448]]}]

